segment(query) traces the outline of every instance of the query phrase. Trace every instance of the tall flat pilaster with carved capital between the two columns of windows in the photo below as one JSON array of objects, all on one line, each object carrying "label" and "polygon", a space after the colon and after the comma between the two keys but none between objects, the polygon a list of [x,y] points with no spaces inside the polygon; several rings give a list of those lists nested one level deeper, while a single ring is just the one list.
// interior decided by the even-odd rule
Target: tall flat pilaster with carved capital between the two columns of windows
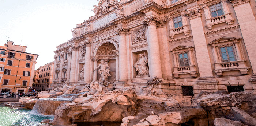
[{"label": "tall flat pilaster with carved capital between the two columns of windows", "polygon": [[186,15],[189,16],[191,24],[200,76],[213,76],[206,38],[204,36],[201,10],[199,7],[189,8]]}]

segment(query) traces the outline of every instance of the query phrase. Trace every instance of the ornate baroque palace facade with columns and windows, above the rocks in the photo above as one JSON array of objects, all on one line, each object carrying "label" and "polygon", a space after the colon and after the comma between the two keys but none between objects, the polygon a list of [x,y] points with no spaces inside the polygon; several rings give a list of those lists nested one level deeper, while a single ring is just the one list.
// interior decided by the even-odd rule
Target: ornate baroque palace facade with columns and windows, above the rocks
[{"label": "ornate baroque palace facade with columns and windows, above the rocks", "polygon": [[255,6],[254,0],[100,0],[95,15],[56,47],[53,87],[105,79],[141,92],[157,77],[167,94],[256,91]]}]

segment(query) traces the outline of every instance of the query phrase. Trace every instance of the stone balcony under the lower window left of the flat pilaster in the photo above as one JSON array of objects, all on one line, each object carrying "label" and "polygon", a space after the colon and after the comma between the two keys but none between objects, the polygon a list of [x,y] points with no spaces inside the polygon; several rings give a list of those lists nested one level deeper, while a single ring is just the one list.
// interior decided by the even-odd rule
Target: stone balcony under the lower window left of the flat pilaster
[{"label": "stone balcony under the lower window left of the flat pilaster", "polygon": [[173,67],[173,75],[175,78],[179,78],[180,74],[190,74],[192,77],[197,77],[196,66],[184,66],[184,67]]}]

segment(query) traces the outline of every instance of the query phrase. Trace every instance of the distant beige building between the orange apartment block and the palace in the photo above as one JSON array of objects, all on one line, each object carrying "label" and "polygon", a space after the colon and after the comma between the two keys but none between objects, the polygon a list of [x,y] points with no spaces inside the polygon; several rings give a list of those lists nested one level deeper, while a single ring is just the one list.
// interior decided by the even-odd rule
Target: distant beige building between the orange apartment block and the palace
[{"label": "distant beige building between the orange apartment block and the palace", "polygon": [[53,80],[54,62],[40,66],[35,70],[33,88],[37,91],[48,91]]}]

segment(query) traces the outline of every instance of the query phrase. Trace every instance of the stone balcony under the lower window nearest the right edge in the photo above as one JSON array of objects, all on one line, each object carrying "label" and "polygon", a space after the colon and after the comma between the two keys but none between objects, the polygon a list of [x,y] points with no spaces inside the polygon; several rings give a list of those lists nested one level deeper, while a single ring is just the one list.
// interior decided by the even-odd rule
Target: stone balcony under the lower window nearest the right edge
[{"label": "stone balcony under the lower window nearest the right edge", "polygon": [[217,76],[222,76],[224,71],[238,70],[242,75],[247,75],[250,68],[246,67],[245,61],[233,61],[225,63],[214,63],[214,72]]}]

